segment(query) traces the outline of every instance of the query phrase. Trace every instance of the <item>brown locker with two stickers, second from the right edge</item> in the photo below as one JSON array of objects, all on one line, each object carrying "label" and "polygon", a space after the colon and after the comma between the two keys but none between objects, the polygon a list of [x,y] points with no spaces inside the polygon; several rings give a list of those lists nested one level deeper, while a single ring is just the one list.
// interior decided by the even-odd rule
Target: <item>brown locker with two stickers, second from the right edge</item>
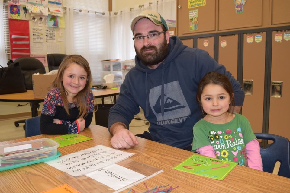
[{"label": "brown locker with two stickers, second from the right edge", "polygon": [[243,90],[245,100],[242,114],[254,132],[262,133],[265,86],[266,32],[243,35]]}]

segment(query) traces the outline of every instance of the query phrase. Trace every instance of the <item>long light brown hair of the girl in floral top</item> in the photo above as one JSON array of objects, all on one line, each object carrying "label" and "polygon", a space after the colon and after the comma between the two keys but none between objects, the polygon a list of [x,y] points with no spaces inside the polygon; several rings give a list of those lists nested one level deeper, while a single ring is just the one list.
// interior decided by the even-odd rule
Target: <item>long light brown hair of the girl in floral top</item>
[{"label": "long light brown hair of the girl in floral top", "polygon": [[68,68],[68,66],[71,63],[80,65],[81,67],[85,69],[86,73],[88,74],[87,82],[85,84],[84,89],[79,91],[79,93],[74,97],[74,100],[76,100],[76,104],[79,109],[79,116],[78,116],[79,118],[79,117],[86,116],[86,112],[87,112],[87,98],[89,97],[90,86],[92,82],[92,74],[91,74],[89,62],[81,55],[67,55],[63,59],[63,61],[61,62],[58,68],[57,76],[52,83],[52,87],[60,88],[60,94],[62,96],[63,106],[64,106],[64,109],[66,110],[66,113],[69,115],[69,106],[68,106],[69,102],[66,98],[67,92],[63,86],[63,72],[66,68]]}]

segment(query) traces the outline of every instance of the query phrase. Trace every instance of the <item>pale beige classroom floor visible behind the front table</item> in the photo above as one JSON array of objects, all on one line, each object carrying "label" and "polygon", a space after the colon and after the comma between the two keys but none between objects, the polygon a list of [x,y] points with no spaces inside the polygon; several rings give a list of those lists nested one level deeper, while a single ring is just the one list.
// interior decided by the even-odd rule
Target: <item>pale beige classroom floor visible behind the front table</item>
[{"label": "pale beige classroom floor visible behind the front table", "polygon": [[[8,141],[25,137],[25,131],[23,129],[23,123],[20,123],[19,127],[15,127],[14,121],[26,119],[28,117],[20,117],[17,119],[5,119],[0,120],[0,141]],[[141,134],[144,131],[148,131],[148,121],[133,119],[129,125],[130,131],[134,134]],[[91,125],[95,125],[95,117],[92,119]]]}]

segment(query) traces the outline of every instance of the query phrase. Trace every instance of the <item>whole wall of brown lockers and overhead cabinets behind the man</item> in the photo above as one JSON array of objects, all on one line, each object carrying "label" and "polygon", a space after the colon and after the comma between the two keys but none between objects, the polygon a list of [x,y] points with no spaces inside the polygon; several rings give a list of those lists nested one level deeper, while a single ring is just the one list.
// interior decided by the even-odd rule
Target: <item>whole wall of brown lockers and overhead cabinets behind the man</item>
[{"label": "whole wall of brown lockers and overhead cabinets behind the man", "polygon": [[[190,7],[196,2],[205,5]],[[239,14],[234,2],[177,0],[176,34],[185,45],[206,50],[240,82],[241,113],[254,132],[290,139],[290,1],[247,0]],[[190,23],[193,13],[197,29]]]}]

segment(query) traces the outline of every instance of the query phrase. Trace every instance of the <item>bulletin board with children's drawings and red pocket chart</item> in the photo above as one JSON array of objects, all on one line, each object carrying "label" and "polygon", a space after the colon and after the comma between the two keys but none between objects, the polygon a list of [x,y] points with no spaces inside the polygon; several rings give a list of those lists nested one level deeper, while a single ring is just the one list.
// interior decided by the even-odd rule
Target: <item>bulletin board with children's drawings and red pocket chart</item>
[{"label": "bulletin board with children's drawings and red pocket chart", "polygon": [[11,59],[30,56],[47,66],[47,54],[65,53],[64,16],[62,0],[9,2]]}]

